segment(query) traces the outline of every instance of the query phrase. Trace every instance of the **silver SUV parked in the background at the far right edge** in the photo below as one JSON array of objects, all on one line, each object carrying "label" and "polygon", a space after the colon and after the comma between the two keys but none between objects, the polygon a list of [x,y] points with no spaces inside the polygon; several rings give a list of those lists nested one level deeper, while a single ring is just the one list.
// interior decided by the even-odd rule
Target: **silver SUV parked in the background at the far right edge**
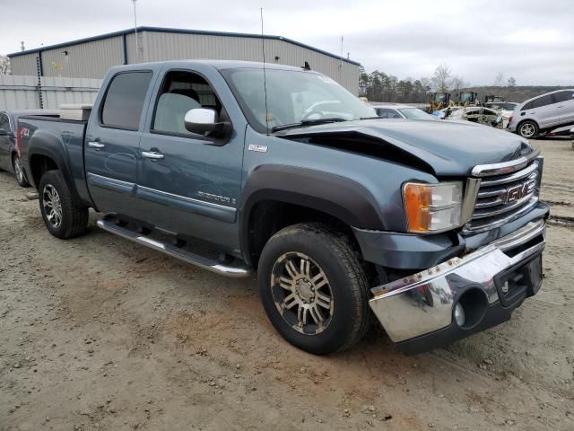
[{"label": "silver SUV parked in the background at the far right edge", "polygon": [[569,124],[574,124],[574,90],[558,90],[519,105],[509,121],[509,130],[523,137],[534,137]]}]

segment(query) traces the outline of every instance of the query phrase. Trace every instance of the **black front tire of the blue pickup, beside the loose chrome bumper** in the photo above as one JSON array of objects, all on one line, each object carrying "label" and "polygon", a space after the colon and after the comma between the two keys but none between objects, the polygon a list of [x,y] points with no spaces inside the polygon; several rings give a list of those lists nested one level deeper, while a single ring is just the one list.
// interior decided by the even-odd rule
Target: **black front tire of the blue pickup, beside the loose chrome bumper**
[{"label": "black front tire of the blue pickup, beside the loose chrome bumper", "polygon": [[[286,272],[281,272],[282,262],[289,259],[293,259],[295,266],[297,266],[296,259],[309,261],[311,269],[308,267],[307,270],[303,270],[304,264],[300,263],[301,273],[313,276],[311,272],[315,270],[315,277],[309,277],[309,280],[319,277],[317,269],[313,268],[318,268],[326,276],[328,283],[318,286],[321,284],[319,281],[315,285],[316,291],[310,289],[314,290],[315,295],[310,294],[314,299],[309,300],[309,305],[301,303],[307,301],[309,297],[301,299],[304,286],[296,284],[293,280],[297,278],[291,277],[291,273],[287,274],[289,272],[286,269],[287,265],[283,267]],[[279,277],[282,274],[283,276],[287,274],[287,278],[291,277],[289,289],[280,285]],[[269,320],[283,338],[295,347],[316,355],[342,351],[352,347],[369,328],[369,284],[358,253],[344,234],[331,230],[324,224],[293,224],[275,233],[261,253],[257,278],[259,295]],[[304,280],[307,278],[299,279],[303,285],[306,283]],[[312,281],[309,283],[313,286]],[[309,287],[305,289],[309,292]],[[324,295],[318,293],[319,289]],[[297,302],[293,305],[293,309],[283,308],[280,312],[280,303],[277,301],[281,299],[282,293],[285,295],[283,299],[292,296],[292,302]],[[322,298],[325,296],[329,296],[332,300],[329,308],[319,306],[324,302]],[[287,304],[286,301],[284,303]],[[318,309],[321,317],[326,318],[325,323],[321,325],[313,323],[319,321],[316,318],[317,310],[309,311],[307,314],[311,323],[305,326],[295,323],[297,320],[301,321],[299,309],[307,306]]]}]

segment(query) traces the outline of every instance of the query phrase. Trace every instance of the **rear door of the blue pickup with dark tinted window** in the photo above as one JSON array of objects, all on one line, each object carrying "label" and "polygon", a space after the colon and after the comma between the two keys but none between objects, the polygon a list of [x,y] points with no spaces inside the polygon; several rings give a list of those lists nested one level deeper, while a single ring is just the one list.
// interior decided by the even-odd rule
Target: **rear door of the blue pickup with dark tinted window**
[{"label": "rear door of the blue pickup with dark tinted window", "polygon": [[143,113],[152,87],[152,70],[113,75],[96,102],[85,136],[85,169],[95,206],[104,213],[138,217],[135,198]]}]

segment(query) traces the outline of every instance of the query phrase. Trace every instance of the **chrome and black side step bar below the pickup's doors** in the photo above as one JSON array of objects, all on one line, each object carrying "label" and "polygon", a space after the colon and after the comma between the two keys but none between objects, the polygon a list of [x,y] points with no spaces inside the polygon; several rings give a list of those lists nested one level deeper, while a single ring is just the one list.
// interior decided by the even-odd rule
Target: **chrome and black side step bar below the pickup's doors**
[{"label": "chrome and black side step bar below the pickup's doors", "polygon": [[109,233],[115,233],[126,240],[137,242],[138,244],[150,247],[153,250],[161,251],[162,253],[171,256],[172,258],[181,259],[192,265],[196,265],[199,268],[207,269],[215,274],[219,274],[225,277],[249,277],[252,274],[251,268],[244,265],[230,266],[223,263],[221,260],[207,259],[203,256],[199,256],[190,251],[183,250],[176,245],[170,244],[168,242],[160,242],[149,238],[143,233],[135,232],[125,227],[116,224],[117,218],[113,215],[103,216],[98,220],[98,227]]}]

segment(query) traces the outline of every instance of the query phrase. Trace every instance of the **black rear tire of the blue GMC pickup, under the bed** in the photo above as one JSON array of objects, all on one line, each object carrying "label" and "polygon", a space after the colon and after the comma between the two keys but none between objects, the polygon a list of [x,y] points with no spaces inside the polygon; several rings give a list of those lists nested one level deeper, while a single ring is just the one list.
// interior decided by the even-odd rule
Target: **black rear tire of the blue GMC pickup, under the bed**
[{"label": "black rear tire of the blue GMC pickup, under the bed", "polygon": [[[54,198],[53,192],[57,198]],[[78,205],[59,171],[48,171],[39,180],[39,210],[42,213],[48,232],[63,240],[83,235],[88,225],[88,208]],[[51,195],[51,196],[50,196]],[[47,214],[48,202],[59,200],[59,224],[53,222],[54,216]],[[57,219],[57,218],[56,218]]]}]

